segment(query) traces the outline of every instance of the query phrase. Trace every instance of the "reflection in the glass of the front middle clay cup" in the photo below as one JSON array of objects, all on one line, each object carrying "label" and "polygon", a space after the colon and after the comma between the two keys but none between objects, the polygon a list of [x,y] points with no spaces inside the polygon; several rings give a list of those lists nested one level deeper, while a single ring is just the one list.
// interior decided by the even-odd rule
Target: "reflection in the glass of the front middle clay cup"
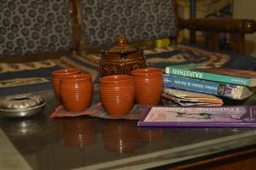
[{"label": "reflection in the glass of the front middle clay cup", "polygon": [[120,154],[131,152],[137,146],[137,122],[109,121],[103,131],[105,149]]}]

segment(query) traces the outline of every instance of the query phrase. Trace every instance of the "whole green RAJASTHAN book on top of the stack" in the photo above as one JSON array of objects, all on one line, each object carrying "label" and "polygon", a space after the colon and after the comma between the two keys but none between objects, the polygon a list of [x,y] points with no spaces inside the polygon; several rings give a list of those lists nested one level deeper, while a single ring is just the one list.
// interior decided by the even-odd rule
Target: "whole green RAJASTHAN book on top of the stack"
[{"label": "whole green RAJASTHAN book on top of the stack", "polygon": [[248,87],[256,86],[256,71],[240,71],[224,68],[189,69],[180,66],[167,66],[166,74],[226,82]]}]

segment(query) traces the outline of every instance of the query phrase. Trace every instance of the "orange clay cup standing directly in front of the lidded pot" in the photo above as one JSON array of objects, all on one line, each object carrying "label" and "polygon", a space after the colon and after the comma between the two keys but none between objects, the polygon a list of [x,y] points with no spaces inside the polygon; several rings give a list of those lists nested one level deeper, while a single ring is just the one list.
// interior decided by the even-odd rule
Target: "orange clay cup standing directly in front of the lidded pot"
[{"label": "orange clay cup standing directly in front of the lidded pot", "polygon": [[121,116],[129,113],[134,104],[133,77],[116,75],[100,79],[102,105],[108,115]]}]

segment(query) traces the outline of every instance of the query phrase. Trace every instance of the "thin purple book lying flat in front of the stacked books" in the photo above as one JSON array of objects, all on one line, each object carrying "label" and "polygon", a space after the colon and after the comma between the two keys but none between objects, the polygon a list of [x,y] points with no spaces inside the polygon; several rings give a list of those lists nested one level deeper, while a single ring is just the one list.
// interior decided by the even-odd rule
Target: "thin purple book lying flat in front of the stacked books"
[{"label": "thin purple book lying flat in front of the stacked books", "polygon": [[153,106],[141,127],[256,127],[256,105],[220,107]]}]

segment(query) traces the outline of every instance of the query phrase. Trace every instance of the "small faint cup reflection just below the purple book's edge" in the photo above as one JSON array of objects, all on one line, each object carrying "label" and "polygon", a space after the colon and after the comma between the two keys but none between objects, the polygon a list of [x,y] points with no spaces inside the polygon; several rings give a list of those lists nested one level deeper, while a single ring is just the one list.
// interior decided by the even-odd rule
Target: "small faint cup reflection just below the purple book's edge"
[{"label": "small faint cup reflection just below the purple book's edge", "polygon": [[139,139],[142,139],[143,141],[146,141],[148,143],[152,143],[164,137],[164,130],[139,128],[138,136],[139,136]]}]

